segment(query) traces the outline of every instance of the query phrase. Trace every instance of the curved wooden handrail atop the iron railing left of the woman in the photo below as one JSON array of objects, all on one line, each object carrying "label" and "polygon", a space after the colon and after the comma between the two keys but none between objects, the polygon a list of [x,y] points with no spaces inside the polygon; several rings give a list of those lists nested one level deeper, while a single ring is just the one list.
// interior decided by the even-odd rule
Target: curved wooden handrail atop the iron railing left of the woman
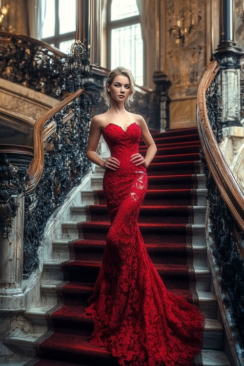
[{"label": "curved wooden handrail atop the iron railing left of the woman", "polygon": [[44,131],[43,126],[45,122],[53,117],[56,113],[61,111],[68,103],[72,102],[75,98],[79,97],[81,93],[85,93],[91,96],[90,93],[86,92],[83,89],[77,90],[75,93],[71,93],[66,98],[64,98],[59,104],[52,107],[49,111],[47,111],[39,120],[37,120],[34,124],[33,130],[33,144],[34,144],[34,158],[31,161],[31,164],[27,170],[27,173],[30,175],[30,180],[26,183],[26,193],[30,193],[37,183],[41,179],[43,165],[44,165]]}]

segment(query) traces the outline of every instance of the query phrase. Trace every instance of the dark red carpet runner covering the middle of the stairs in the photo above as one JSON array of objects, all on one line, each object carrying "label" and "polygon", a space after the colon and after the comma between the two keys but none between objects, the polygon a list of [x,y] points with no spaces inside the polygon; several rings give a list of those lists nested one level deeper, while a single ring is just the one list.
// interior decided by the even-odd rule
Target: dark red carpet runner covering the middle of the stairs
[{"label": "dark red carpet runner covering the middle of the stairs", "polygon": [[[199,167],[197,128],[152,133],[158,151],[147,168],[148,190],[139,228],[148,254],[169,291],[198,305],[193,268],[193,205],[197,204]],[[146,146],[140,142],[144,156]],[[96,204],[86,206],[87,222],[78,223],[81,240],[69,243],[70,261],[60,264],[64,280],[57,289],[58,306],[46,314],[49,330],[38,341],[37,357],[26,366],[119,365],[104,347],[90,345],[93,320],[86,300],[93,292],[110,221],[102,190]]]}]

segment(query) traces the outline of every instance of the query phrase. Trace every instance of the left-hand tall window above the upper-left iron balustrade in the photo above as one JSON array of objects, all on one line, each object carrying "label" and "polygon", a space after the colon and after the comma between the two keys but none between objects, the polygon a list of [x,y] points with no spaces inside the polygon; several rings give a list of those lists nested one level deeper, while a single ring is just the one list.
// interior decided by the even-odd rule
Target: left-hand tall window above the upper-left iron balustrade
[{"label": "left-hand tall window above the upper-left iron balustrade", "polygon": [[45,18],[41,39],[62,52],[70,51],[75,41],[76,0],[45,1]]}]

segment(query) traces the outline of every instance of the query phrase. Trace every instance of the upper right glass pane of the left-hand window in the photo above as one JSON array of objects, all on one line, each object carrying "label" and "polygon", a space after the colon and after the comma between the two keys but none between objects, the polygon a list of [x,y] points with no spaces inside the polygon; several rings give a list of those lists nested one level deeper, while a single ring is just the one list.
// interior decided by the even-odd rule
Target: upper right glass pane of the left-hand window
[{"label": "upper right glass pane of the left-hand window", "polygon": [[76,0],[59,0],[60,34],[76,30]]}]

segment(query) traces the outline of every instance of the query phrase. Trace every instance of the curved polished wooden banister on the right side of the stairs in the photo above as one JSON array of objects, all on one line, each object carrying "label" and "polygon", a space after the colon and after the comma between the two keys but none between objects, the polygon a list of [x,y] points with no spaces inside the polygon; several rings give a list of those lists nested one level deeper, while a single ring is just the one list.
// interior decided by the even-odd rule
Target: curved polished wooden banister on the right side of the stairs
[{"label": "curved polished wooden banister on the right side of the stairs", "polygon": [[[234,220],[244,230],[244,194],[225,161],[207,115],[205,93],[219,68],[217,61],[210,63],[199,84],[197,93],[197,127],[205,160],[214,181]],[[244,257],[244,248],[239,249]]]}]

